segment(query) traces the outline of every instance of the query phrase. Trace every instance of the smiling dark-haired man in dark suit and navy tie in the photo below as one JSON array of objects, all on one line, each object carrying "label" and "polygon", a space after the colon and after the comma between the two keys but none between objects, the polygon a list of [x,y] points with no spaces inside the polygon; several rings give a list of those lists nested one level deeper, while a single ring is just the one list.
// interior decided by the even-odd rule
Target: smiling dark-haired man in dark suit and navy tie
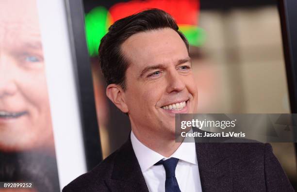
[{"label": "smiling dark-haired man in dark suit and navy tie", "polygon": [[269,144],[175,142],[175,114],[195,113],[198,102],[188,53],[186,38],[162,10],[109,28],[99,48],[106,95],[128,114],[132,132],[64,192],[293,191]]}]

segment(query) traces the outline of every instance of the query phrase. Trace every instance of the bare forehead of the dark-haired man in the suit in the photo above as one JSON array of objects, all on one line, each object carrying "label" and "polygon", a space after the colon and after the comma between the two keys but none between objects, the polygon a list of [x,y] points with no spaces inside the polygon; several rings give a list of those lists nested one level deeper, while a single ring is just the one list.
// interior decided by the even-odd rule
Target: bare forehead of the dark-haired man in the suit
[{"label": "bare forehead of the dark-haired man in the suit", "polygon": [[172,29],[139,32],[121,46],[131,67],[143,68],[153,64],[170,64],[188,57],[180,35]]}]

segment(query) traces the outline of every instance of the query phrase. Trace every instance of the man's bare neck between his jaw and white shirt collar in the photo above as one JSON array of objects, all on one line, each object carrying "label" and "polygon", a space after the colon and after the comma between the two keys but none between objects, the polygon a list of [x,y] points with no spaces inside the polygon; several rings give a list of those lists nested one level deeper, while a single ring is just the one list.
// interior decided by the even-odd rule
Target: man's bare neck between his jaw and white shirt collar
[{"label": "man's bare neck between his jaw and white shirt collar", "polygon": [[132,128],[135,137],[151,150],[163,155],[164,157],[170,157],[181,145],[177,143],[175,138],[163,138],[161,135],[152,135],[149,133],[143,134]]}]

